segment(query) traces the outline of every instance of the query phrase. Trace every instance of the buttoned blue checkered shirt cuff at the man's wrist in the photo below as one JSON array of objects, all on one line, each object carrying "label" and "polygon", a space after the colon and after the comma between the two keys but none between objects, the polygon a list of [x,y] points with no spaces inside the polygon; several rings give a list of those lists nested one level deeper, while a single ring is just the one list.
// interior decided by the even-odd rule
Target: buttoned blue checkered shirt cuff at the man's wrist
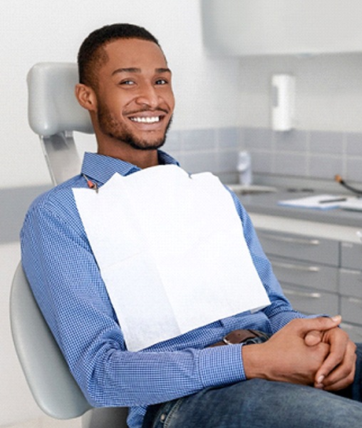
[{"label": "buttoned blue checkered shirt cuff at the man's wrist", "polygon": [[199,371],[205,388],[246,380],[242,346],[222,345],[207,347],[200,351]]}]

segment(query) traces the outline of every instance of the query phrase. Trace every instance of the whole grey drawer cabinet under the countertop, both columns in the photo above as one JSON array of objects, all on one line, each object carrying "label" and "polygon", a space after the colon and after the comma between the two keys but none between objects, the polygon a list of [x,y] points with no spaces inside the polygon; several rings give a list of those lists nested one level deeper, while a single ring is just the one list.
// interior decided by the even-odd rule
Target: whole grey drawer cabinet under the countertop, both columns
[{"label": "whole grey drawer cabinet under the countertop, both columns", "polygon": [[341,314],[342,327],[362,342],[362,245],[257,230],[284,294],[305,314]]}]

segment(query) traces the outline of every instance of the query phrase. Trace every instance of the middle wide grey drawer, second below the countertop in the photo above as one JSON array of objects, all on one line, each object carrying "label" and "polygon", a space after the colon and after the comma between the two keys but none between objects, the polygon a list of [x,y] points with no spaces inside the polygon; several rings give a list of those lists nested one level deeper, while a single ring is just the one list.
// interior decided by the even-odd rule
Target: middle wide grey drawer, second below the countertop
[{"label": "middle wide grey drawer, second below the countertop", "polygon": [[338,290],[337,267],[273,257],[270,261],[280,282],[331,292]]}]

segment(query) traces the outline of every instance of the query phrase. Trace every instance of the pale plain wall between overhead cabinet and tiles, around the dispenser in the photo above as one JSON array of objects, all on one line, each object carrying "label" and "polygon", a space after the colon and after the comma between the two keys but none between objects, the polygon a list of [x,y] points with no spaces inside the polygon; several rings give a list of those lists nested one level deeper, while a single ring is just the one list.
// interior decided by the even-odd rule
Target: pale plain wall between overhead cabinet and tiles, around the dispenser
[{"label": "pale plain wall between overhead cabinet and tiles, around the dispenser", "polygon": [[245,56],[239,63],[241,126],[270,126],[271,76],[291,73],[297,129],[362,132],[362,54]]}]

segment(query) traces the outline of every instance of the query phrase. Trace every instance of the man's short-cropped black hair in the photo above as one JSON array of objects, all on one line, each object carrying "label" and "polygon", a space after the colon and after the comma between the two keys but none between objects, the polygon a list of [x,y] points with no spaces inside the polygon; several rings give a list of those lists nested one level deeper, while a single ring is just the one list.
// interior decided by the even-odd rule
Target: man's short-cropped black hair
[{"label": "man's short-cropped black hair", "polygon": [[140,39],[152,41],[160,46],[155,36],[141,26],[134,24],[106,25],[92,31],[83,41],[78,51],[79,83],[97,86],[97,71],[108,59],[104,49],[105,44],[117,39]]}]

